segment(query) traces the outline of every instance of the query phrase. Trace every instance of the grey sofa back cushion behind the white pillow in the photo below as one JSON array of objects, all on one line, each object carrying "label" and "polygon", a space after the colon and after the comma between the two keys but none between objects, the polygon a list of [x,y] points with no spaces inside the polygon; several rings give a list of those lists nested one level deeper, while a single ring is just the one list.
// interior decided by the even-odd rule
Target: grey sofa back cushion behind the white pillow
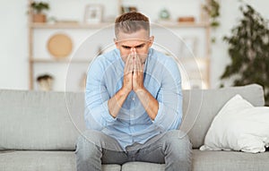
[{"label": "grey sofa back cushion behind the white pillow", "polygon": [[183,121],[180,129],[188,134],[193,148],[204,144],[205,134],[214,116],[236,94],[240,94],[255,107],[265,105],[264,90],[257,84],[216,90],[183,91]]}]

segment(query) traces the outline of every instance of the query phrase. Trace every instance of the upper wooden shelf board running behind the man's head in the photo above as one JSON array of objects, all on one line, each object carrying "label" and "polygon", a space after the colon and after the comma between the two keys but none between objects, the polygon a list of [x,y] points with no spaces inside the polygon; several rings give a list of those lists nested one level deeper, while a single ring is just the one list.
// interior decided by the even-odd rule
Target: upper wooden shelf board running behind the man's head
[{"label": "upper wooden shelf board running behind the man's head", "polygon": [[[111,22],[101,22],[97,24],[85,23],[30,23],[32,29],[101,29],[113,25]],[[206,22],[156,22],[154,26],[161,26],[167,28],[206,28],[209,26]]]}]

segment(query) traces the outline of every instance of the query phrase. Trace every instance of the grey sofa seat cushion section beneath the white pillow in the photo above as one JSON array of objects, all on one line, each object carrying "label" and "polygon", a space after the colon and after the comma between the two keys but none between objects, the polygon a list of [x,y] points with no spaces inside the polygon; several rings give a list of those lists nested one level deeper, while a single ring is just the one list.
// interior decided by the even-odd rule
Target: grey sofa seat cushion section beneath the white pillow
[{"label": "grey sofa seat cushion section beneath the white pillow", "polygon": [[269,152],[246,153],[239,151],[193,150],[193,171],[215,170],[268,170]]}]

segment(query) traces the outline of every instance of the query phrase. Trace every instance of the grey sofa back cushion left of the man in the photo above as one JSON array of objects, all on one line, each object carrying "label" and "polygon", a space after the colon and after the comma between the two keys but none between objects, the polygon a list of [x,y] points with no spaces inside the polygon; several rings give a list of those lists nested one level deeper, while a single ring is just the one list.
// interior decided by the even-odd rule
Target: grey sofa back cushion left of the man
[{"label": "grey sofa back cushion left of the man", "polygon": [[0,90],[0,150],[74,150],[84,129],[83,99],[83,93]]}]

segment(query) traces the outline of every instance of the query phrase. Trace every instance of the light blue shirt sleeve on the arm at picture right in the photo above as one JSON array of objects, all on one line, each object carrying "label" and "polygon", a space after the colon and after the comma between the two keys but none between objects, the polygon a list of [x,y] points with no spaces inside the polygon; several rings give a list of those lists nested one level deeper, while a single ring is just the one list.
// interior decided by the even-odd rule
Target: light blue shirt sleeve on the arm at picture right
[{"label": "light blue shirt sleeve on the arm at picture right", "polygon": [[178,65],[172,59],[169,59],[162,70],[157,100],[159,109],[153,124],[161,131],[178,129],[182,119],[181,77]]}]

